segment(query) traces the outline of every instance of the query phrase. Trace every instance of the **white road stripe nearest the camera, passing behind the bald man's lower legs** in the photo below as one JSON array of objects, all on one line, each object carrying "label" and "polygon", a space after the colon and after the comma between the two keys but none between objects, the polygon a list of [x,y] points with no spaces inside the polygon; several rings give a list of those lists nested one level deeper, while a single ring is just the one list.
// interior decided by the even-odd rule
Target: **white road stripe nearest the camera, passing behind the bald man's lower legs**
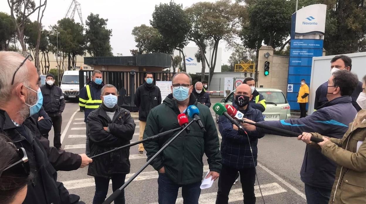
[{"label": "white road stripe nearest the camera, passing behind the bald man's lower legs", "polygon": [[[270,184],[261,185],[261,189],[262,189],[263,196],[269,196],[269,195],[273,195],[273,194],[277,194],[277,193],[287,192],[287,190],[282,188],[277,183],[270,183]],[[255,197],[261,197],[261,193],[259,192],[259,187],[258,186],[254,186],[254,193],[255,193]],[[217,196],[216,192],[214,192],[214,193],[203,193],[199,196],[198,202],[200,204],[215,203],[216,202],[216,196]],[[235,201],[239,201],[239,200],[243,200],[242,188],[231,189],[230,194],[229,194],[229,202],[235,202]],[[177,203],[183,203],[183,198],[178,198],[175,203],[176,204]],[[158,203],[150,203],[150,204],[158,204]]]}]

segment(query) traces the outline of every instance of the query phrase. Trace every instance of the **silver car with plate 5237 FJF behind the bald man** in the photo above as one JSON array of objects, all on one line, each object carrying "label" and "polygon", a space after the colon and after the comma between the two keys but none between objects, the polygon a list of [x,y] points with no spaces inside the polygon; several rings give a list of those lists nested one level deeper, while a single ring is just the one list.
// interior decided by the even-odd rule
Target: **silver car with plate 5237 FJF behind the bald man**
[{"label": "silver car with plate 5237 FJF behind the bald man", "polygon": [[[271,88],[255,88],[266,100],[266,110],[263,112],[264,120],[286,120],[291,118],[290,104],[280,89]],[[221,104],[232,104],[234,101],[234,93],[231,92],[225,99],[221,99]],[[216,114],[216,122],[219,115]]]}]

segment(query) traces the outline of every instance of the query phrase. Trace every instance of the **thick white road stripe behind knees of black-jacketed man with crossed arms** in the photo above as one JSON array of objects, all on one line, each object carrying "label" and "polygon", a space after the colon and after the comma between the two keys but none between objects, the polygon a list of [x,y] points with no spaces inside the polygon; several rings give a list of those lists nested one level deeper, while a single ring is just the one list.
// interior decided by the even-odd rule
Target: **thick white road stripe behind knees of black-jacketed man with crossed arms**
[{"label": "thick white road stripe behind knees of black-jacketed man with crossed arms", "polygon": [[[208,171],[208,165],[203,166],[203,172]],[[126,175],[126,181],[130,179],[135,173],[129,173]],[[153,179],[158,178],[158,172],[152,171],[152,172],[141,172],[134,181],[141,181],[141,180],[147,180],[147,179]],[[63,184],[66,189],[75,189],[75,188],[86,188],[95,186],[94,178],[84,178],[84,179],[78,179],[78,180],[71,180],[71,181],[63,181]],[[112,181],[109,181],[109,184],[112,184]]]}]

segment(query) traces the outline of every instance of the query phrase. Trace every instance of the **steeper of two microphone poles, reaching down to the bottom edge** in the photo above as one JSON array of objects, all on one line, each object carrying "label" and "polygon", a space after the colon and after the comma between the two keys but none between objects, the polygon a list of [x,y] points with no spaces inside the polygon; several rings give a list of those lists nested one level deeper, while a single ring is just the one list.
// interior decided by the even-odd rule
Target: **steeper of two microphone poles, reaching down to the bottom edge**
[{"label": "steeper of two microphone poles, reaching down to the bottom edge", "polygon": [[128,179],[128,181],[126,183],[123,184],[123,186],[121,186],[121,188],[117,189],[115,192],[112,193],[112,195],[110,195],[107,200],[105,200],[102,204],[111,204],[113,202],[113,200],[115,200],[122,192],[123,189],[126,188],[126,186],[128,184],[130,184],[132,182],[132,180],[134,180],[149,164],[150,162],[152,162],[161,152],[163,152],[163,150],[165,148],[168,147],[168,145],[170,143],[172,143],[175,138],[177,138],[184,130],[187,129],[188,126],[190,126],[192,123],[194,123],[196,120],[193,119],[191,122],[188,123],[187,126],[183,127],[182,130],[180,130],[178,132],[178,134],[176,134],[167,144],[165,144],[151,159],[149,159],[149,161],[147,161],[142,167],[141,169],[139,169],[130,179]]}]

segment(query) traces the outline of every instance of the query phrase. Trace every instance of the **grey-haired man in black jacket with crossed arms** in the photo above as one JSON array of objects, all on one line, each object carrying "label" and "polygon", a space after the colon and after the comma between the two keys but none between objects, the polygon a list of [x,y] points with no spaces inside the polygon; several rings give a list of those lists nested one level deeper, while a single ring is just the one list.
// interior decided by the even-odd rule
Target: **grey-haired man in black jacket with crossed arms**
[{"label": "grey-haired man in black jacket with crossed arms", "polygon": [[[130,112],[118,107],[115,86],[111,84],[103,86],[100,97],[103,103],[87,118],[91,155],[129,144],[136,127]],[[90,164],[88,175],[94,176],[95,180],[93,204],[104,202],[110,179],[112,179],[113,192],[124,184],[126,174],[130,173],[129,156],[130,148],[128,147],[96,157]],[[114,203],[124,204],[124,192],[116,198]]]}]

